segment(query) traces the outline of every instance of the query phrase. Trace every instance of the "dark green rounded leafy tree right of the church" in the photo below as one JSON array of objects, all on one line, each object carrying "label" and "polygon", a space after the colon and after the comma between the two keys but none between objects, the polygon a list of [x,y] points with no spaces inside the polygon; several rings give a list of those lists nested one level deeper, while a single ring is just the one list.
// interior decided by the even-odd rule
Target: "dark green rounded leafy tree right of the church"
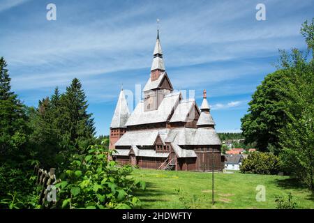
[{"label": "dark green rounded leafy tree right of the church", "polygon": [[256,142],[259,151],[269,150],[270,145],[278,147],[278,130],[283,128],[285,113],[280,99],[283,92],[277,86],[286,75],[282,70],[267,75],[248,103],[248,114],[241,118],[246,143]]}]

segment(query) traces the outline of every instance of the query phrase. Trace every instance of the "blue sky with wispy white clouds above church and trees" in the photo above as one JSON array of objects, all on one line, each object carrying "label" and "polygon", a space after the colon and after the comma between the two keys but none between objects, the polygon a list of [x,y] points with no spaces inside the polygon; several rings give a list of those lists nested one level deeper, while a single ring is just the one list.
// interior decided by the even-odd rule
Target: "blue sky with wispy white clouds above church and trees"
[{"label": "blue sky with wispy white clouds above church and trees", "polygon": [[[57,21],[46,6],[57,6]],[[266,21],[255,6],[264,3]],[[218,132],[239,132],[240,118],[278,49],[306,49],[301,23],[308,1],[39,1],[0,0],[0,56],[12,88],[26,105],[81,80],[97,134],[107,134],[121,84],[149,78],[160,19],[165,67],[174,89],[207,89]]]}]

